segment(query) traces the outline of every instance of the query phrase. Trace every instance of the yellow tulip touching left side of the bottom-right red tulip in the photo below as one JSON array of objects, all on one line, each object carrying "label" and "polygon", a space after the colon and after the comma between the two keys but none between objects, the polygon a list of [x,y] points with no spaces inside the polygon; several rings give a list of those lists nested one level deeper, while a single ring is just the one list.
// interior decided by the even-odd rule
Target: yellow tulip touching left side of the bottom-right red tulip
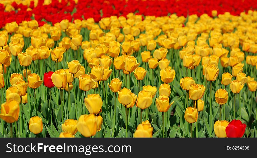
[{"label": "yellow tulip touching left side of the bottom-right red tulip", "polygon": [[230,122],[223,120],[223,121],[216,121],[214,124],[214,133],[218,138],[226,138],[226,127]]}]

